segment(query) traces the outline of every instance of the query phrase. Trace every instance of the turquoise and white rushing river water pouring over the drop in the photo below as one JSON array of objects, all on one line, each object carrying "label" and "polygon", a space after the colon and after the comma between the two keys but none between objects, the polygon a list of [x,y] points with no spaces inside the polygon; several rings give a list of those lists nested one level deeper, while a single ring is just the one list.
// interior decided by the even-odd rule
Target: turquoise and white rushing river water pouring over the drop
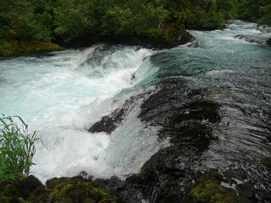
[{"label": "turquoise and white rushing river water pouring over the drop", "polygon": [[[271,153],[271,49],[262,44],[269,36],[243,21],[223,31],[190,32],[198,48],[95,45],[0,61],[0,113],[20,116],[44,144],[36,143],[32,172],[43,182],[82,170],[104,178],[138,173],[170,145],[158,139],[159,125],[138,118],[140,105],[157,85],[182,81],[220,105],[221,122],[213,129],[219,141],[204,151],[201,167],[249,165],[257,176],[255,160]],[[87,131],[133,95],[137,100],[111,134]]]}]

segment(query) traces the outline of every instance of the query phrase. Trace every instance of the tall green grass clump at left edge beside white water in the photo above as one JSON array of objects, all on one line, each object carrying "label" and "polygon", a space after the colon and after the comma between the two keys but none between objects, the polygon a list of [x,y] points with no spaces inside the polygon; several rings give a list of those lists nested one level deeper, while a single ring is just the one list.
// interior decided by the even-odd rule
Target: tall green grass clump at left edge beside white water
[{"label": "tall green grass clump at left edge beside white water", "polygon": [[0,182],[14,182],[29,175],[35,163],[33,157],[36,152],[34,142],[37,131],[28,134],[27,125],[19,116],[22,128],[14,123],[10,116],[2,114],[0,118]]}]

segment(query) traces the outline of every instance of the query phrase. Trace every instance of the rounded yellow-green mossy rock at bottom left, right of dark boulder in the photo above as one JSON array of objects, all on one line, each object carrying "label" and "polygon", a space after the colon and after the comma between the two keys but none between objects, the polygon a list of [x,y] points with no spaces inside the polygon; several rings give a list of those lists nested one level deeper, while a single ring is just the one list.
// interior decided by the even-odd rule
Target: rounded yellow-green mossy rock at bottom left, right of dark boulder
[{"label": "rounded yellow-green mossy rock at bottom left, right of dark boulder", "polygon": [[45,188],[39,188],[32,197],[31,202],[47,201],[64,203],[64,202],[100,202],[107,199],[105,202],[116,202],[116,198],[108,194],[96,186],[89,179],[81,177],[73,178],[53,178],[46,181]]}]

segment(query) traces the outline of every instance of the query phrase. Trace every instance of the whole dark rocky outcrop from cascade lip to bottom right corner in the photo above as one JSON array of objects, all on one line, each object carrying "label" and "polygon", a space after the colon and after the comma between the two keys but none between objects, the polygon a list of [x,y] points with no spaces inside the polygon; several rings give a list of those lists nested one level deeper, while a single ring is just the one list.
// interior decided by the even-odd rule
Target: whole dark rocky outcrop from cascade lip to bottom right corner
[{"label": "whole dark rocky outcrop from cascade lip to bottom right corner", "polygon": [[[155,63],[156,58],[150,60]],[[126,103],[132,104],[130,100]],[[180,81],[163,82],[143,100],[140,109],[141,122],[159,126],[159,139],[168,140],[170,145],[155,153],[140,173],[124,183],[114,177],[97,180],[119,202],[271,202],[270,192],[254,187],[255,180],[250,180],[245,168],[226,165],[228,170],[219,172],[202,164],[206,161],[204,152],[218,142],[213,130],[221,123],[220,105],[208,100],[207,92]],[[125,111],[127,105],[116,112]],[[268,173],[268,160],[260,165],[263,173]],[[268,180],[257,181],[268,185]]]}]

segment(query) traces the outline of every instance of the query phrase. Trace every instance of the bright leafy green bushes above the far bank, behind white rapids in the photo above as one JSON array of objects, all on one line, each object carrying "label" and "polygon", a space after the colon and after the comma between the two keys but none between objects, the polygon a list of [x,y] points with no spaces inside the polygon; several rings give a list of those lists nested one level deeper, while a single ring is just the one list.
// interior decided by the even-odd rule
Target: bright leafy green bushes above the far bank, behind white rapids
[{"label": "bright leafy green bushes above the far bank, behind white rapids", "polygon": [[54,9],[54,32],[66,41],[79,36],[95,39],[145,35],[167,16],[161,2],[165,1],[62,1]]}]

